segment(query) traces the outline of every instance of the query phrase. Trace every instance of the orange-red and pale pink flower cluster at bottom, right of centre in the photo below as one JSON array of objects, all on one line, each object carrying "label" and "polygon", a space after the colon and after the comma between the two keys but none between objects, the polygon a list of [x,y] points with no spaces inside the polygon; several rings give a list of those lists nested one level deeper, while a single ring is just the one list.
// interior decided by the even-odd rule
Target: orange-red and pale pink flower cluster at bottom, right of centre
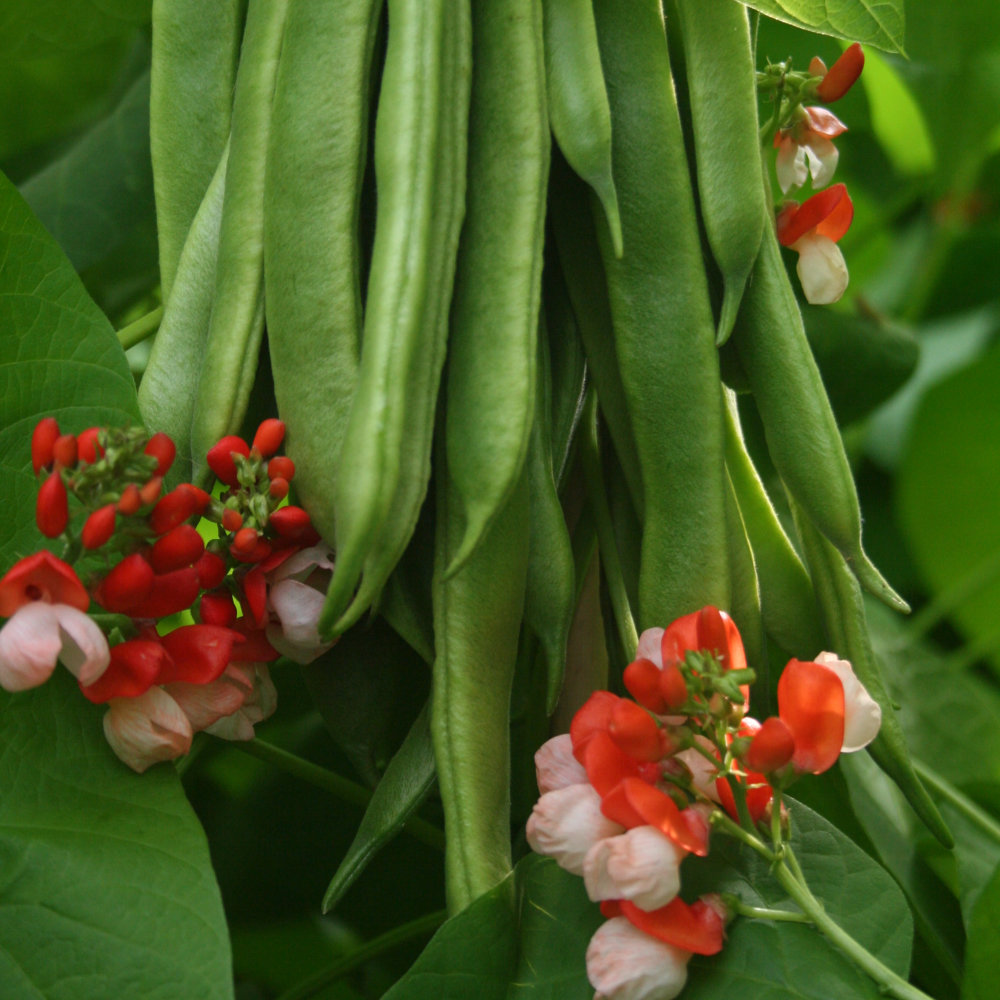
[{"label": "orange-red and pale pink flower cluster at bottom, right of centre", "polygon": [[595,692],[535,755],[528,842],[582,876],[608,918],[587,949],[595,1000],[676,996],[727,919],[719,897],[680,897],[683,860],[708,853],[723,810],[769,824],[790,781],[878,732],[878,706],[831,653],[788,664],[763,725],[745,714],[752,680],[732,619],[702,608],[642,634],[624,675],[634,700]]}]

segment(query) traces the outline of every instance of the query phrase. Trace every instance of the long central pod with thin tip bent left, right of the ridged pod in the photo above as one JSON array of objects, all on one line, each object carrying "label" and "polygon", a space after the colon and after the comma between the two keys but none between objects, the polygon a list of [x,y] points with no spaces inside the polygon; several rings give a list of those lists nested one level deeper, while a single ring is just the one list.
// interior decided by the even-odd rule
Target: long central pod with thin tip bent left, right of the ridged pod
[{"label": "long central pod with thin tip bent left, right of the ridged pod", "polygon": [[535,422],[549,131],[539,0],[473,0],[469,185],[448,341],[448,468],[465,510],[450,572],[521,475]]}]

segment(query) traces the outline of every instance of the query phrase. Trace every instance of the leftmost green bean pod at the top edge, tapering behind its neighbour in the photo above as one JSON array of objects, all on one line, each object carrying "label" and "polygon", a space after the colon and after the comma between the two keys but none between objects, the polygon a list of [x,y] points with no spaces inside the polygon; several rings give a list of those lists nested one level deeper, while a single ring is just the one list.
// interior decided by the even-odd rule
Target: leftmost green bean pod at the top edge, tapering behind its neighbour
[{"label": "leftmost green bean pod at the top edge, tapering behind its neighbour", "polygon": [[229,140],[242,10],[240,0],[153,0],[149,140],[164,302]]}]

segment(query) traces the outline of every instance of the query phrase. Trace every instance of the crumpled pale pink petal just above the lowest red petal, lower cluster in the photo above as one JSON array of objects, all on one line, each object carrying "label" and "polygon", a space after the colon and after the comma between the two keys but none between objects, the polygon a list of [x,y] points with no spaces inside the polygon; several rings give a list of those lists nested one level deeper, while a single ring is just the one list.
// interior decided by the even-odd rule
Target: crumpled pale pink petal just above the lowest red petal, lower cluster
[{"label": "crumpled pale pink petal just above the lowest red petal, lower cluster", "polygon": [[654,826],[637,826],[598,841],[583,859],[583,881],[595,903],[628,899],[643,910],[666,906],[680,891],[687,851]]}]

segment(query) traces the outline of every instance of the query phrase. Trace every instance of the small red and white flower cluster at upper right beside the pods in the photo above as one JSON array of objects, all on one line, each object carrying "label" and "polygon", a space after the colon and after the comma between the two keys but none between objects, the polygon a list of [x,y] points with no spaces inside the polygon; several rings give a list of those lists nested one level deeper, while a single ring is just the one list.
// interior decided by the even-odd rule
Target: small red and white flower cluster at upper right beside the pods
[{"label": "small red and white flower cluster at upper right beside the pods", "polygon": [[837,241],[853,217],[851,199],[843,184],[820,190],[833,179],[838,152],[833,140],[847,126],[825,107],[805,105],[818,99],[839,100],[861,75],[864,53],[855,42],[828,70],[818,56],[809,72],[792,73],[786,64],[769,66],[762,75],[762,89],[775,92],[775,169],[783,194],[802,187],[808,179],[817,194],[804,203],[788,200],[778,210],[778,240],[799,254],[797,271],[802,291],[813,304],[836,302],[847,288],[847,265]]}]

